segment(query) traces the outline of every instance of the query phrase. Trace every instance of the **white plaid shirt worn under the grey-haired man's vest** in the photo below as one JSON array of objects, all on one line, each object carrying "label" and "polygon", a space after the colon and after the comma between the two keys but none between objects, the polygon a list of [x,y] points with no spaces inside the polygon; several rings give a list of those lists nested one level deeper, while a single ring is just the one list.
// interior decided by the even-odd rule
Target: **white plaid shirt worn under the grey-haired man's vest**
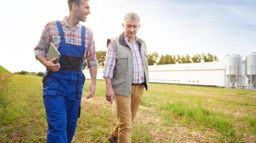
[{"label": "white plaid shirt worn under the grey-haired man's vest", "polygon": [[[138,46],[138,37],[136,36],[136,40],[131,42],[128,37],[125,36],[126,43],[132,49],[133,56],[133,73],[132,73],[132,83],[133,84],[141,84],[145,82],[144,80],[144,68],[142,63],[142,58]],[[112,42],[109,42],[107,46],[105,66],[103,72],[103,78],[112,78],[114,68],[116,66],[116,50],[113,48]]]}]

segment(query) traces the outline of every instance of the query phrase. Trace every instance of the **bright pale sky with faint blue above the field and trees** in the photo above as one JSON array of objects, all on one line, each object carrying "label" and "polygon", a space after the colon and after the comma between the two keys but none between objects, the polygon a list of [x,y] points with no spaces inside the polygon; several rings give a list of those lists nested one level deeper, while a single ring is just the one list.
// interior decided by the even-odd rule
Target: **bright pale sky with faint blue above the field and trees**
[{"label": "bright pale sky with faint blue above the field and trees", "polygon": [[[96,50],[106,50],[106,40],[123,32],[123,17],[140,16],[137,33],[148,54],[191,57],[211,53],[245,56],[256,51],[256,1],[240,0],[91,0],[91,14],[80,22],[93,32]],[[0,65],[11,72],[44,72],[34,57],[47,22],[62,20],[68,6],[61,0],[1,2]]]}]

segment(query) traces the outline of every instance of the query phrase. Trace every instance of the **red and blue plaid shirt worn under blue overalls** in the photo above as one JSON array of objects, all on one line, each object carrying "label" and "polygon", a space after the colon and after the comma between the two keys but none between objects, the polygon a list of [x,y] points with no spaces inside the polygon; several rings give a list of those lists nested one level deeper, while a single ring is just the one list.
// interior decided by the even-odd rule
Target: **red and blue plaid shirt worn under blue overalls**
[{"label": "red and blue plaid shirt worn under blue overalls", "polygon": [[[65,33],[64,38],[66,43],[81,46],[82,45],[82,38],[81,38],[82,25],[78,23],[76,27],[73,30],[71,30],[68,27],[66,18],[67,17],[64,17],[64,19],[60,21],[63,32]],[[85,39],[86,51],[84,54],[83,62],[85,62],[85,60],[87,59],[88,67],[92,65],[98,65],[92,31],[87,27],[85,28],[85,38],[86,38]],[[35,58],[39,54],[44,54],[47,57],[47,52],[49,50],[49,46],[51,42],[58,49],[60,36],[59,36],[59,30],[55,21],[50,21],[45,25],[41,38],[39,40],[39,43],[34,48]]]}]

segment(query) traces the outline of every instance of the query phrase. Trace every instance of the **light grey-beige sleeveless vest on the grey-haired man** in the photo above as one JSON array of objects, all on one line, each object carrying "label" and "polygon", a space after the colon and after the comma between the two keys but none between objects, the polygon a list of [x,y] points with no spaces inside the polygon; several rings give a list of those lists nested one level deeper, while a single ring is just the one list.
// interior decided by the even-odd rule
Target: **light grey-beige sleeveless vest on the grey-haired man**
[{"label": "light grey-beige sleeveless vest on the grey-haired man", "polygon": [[[124,39],[124,34],[120,36],[107,39],[107,45],[112,42],[116,50],[116,66],[114,68],[113,77],[111,80],[112,88],[116,95],[131,96],[131,84],[133,73],[133,56],[130,46]],[[139,39],[138,45],[140,47],[140,54],[144,69],[143,83],[146,90],[149,85],[149,67],[148,67],[148,54],[147,46],[142,39]]]}]

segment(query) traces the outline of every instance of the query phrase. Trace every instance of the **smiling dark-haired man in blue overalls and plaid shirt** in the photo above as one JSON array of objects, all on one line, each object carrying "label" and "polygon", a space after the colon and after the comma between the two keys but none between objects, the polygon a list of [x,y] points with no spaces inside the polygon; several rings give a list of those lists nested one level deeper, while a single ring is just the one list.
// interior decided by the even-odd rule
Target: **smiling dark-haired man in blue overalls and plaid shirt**
[{"label": "smiling dark-haired man in blue overalls and plaid shirt", "polygon": [[[97,59],[92,31],[79,24],[90,14],[89,1],[67,0],[69,15],[62,21],[48,22],[41,35],[34,54],[47,67],[43,77],[43,99],[48,123],[47,142],[71,142],[77,119],[80,117],[80,104],[85,82],[82,64],[87,59],[92,82],[87,99],[95,93]],[[46,60],[50,43],[61,56]]]}]

